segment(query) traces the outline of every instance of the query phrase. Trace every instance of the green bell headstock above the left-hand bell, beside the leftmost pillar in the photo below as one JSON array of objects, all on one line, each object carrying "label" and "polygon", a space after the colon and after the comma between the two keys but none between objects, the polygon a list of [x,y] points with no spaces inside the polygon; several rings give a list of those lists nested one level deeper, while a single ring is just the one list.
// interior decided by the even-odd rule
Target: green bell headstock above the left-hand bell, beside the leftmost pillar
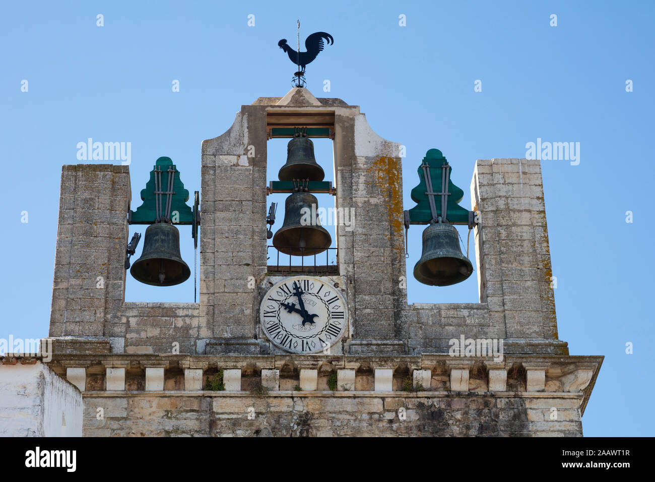
[{"label": "green bell headstock above the left-hand bell, beside the leftmost pillar", "polygon": [[160,157],[155,161],[145,189],[141,190],[141,200],[143,204],[136,211],[129,212],[129,224],[153,224],[165,221],[166,217],[172,218],[172,224],[200,224],[199,212],[186,204],[189,191],[184,188],[179,171],[170,157]]}]

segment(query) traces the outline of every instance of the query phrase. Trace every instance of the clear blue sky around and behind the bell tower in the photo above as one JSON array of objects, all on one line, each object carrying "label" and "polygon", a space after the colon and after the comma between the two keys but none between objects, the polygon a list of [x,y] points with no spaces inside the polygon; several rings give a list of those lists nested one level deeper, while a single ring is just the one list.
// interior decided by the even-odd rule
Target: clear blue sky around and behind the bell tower
[{"label": "clear blue sky around and behind the bell tower", "polygon": [[[648,217],[654,6],[651,1],[4,3],[0,338],[47,336],[60,175],[62,165],[85,162],[77,160],[77,143],[88,138],[131,143],[133,210],[162,155],[173,159],[191,193],[200,190],[202,140],[225,132],[242,104],[291,89],[295,68],[277,43],[284,37],[295,48],[299,18],[301,43],[314,31],[335,39],[307,66],[309,90],[360,105],[377,134],[406,146],[405,209],[414,205],[409,191],[430,148],[443,151],[453,165],[453,181],[464,190],[461,204],[470,209],[476,159],[526,157],[526,143],[537,138],[580,143],[577,165],[542,160],[559,338],[569,342],[572,355],[605,355],[583,418],[585,435],[654,435],[648,407],[654,385],[646,363],[654,342]],[[552,14],[557,26],[551,26]],[[330,92],[323,91],[326,79]],[[172,91],[175,80],[179,92]],[[481,92],[475,89],[478,80]],[[276,178],[285,157],[286,141],[272,141],[269,179]],[[331,165],[329,142],[316,142],[316,157],[324,167]],[[331,169],[326,171],[331,179]],[[269,200],[284,204],[283,195]],[[319,197],[319,203],[328,201]],[[133,226],[130,233],[143,228]],[[182,256],[193,272],[190,228],[180,231]],[[475,273],[441,289],[413,279],[420,226],[409,230],[409,252],[410,303],[477,302]],[[155,289],[128,276],[126,298],[193,301],[193,281]],[[632,354],[626,353],[628,342]]]}]

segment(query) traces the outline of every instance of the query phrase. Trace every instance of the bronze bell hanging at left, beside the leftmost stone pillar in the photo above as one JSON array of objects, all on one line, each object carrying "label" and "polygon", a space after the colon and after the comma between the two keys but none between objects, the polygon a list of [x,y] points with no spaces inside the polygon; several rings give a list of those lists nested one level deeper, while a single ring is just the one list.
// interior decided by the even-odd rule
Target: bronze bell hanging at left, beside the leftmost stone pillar
[{"label": "bronze bell hanging at left, beside the leftmost stone pillar", "polygon": [[191,276],[189,266],[179,254],[179,231],[172,224],[157,222],[148,226],[141,258],[130,268],[134,279],[153,286],[174,286]]}]

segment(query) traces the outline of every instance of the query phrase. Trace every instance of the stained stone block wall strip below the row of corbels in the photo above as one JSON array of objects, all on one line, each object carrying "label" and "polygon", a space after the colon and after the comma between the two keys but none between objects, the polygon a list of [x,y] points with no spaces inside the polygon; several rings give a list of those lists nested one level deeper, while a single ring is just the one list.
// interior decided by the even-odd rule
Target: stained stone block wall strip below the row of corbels
[{"label": "stained stone block wall strip below the row of corbels", "polygon": [[[578,397],[375,392],[84,396],[86,437],[581,437]],[[96,417],[98,407],[104,418]],[[552,408],[559,407],[551,420]]]}]

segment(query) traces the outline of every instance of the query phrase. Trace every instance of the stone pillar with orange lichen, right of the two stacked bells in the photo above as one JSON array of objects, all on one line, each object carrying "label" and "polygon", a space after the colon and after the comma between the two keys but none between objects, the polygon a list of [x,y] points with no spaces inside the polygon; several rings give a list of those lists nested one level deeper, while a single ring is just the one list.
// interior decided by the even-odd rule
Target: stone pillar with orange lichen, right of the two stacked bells
[{"label": "stone pillar with orange lichen, right of the two stacked bells", "polygon": [[404,353],[407,306],[400,144],[384,140],[365,115],[335,113],[337,208],[352,209],[353,230],[337,226],[339,270],[352,280],[348,306],[354,323],[350,353]]}]

